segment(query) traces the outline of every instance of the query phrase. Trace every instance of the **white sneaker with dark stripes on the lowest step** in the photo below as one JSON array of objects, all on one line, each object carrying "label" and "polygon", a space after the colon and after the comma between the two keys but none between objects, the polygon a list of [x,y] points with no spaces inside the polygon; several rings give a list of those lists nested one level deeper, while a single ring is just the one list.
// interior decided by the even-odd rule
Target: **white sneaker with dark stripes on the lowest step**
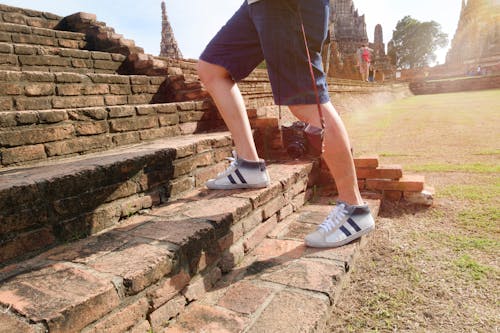
[{"label": "white sneaker with dark stripes on the lowest step", "polygon": [[348,205],[338,201],[318,229],[305,238],[310,247],[338,247],[369,233],[375,228],[368,205]]}]

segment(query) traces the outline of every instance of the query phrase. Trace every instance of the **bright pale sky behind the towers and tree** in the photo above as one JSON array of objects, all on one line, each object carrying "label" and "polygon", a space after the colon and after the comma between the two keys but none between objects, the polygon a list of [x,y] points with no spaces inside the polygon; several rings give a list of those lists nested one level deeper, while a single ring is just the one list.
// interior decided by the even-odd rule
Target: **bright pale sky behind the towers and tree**
[{"label": "bright pale sky behind the towers and tree", "polygon": [[[60,16],[76,12],[97,15],[146,53],[158,55],[161,41],[161,0],[0,0],[1,4],[40,10]],[[204,46],[241,5],[242,0],[165,0],[167,15],[184,58],[197,59]],[[451,42],[457,27],[462,0],[354,0],[365,15],[367,33],[373,41],[376,24],[381,24],[384,43],[396,24],[410,15],[419,21],[436,21]],[[447,48],[436,54],[444,63]]]}]

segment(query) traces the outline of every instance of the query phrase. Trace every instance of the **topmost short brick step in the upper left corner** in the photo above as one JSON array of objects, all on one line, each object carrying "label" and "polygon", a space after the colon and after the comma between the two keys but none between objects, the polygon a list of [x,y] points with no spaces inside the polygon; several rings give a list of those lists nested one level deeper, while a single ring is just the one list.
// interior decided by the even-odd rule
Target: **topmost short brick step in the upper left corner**
[{"label": "topmost short brick step in the upper left corner", "polygon": [[22,24],[36,28],[54,28],[61,16],[0,4],[0,22]]}]

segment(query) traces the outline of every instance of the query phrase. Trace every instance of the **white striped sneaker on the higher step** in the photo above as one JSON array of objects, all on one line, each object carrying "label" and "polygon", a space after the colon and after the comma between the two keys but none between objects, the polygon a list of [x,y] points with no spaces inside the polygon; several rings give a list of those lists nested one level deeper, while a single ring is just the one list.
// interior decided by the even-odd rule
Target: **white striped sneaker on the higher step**
[{"label": "white striped sneaker on the higher step", "polygon": [[207,181],[206,186],[211,190],[232,190],[238,188],[261,188],[269,185],[269,174],[267,173],[264,160],[257,162],[238,158],[233,151],[233,157],[229,167],[219,173],[214,179]]}]

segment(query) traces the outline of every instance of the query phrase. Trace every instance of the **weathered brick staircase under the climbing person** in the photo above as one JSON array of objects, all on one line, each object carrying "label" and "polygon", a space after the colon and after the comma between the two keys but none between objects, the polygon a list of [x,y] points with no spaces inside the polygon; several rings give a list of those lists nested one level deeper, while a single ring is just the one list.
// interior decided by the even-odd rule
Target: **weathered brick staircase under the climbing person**
[{"label": "weathered brick staircase under the climbing person", "polygon": [[[321,331],[365,238],[304,247],[330,208],[314,189],[335,189],[319,161],[276,158],[262,71],[241,86],[271,186],[203,187],[232,141],[195,65],[92,14],[0,5],[0,332]],[[356,166],[375,215],[380,199],[432,200],[400,166]],[[318,312],[287,318],[292,301]]]}]

